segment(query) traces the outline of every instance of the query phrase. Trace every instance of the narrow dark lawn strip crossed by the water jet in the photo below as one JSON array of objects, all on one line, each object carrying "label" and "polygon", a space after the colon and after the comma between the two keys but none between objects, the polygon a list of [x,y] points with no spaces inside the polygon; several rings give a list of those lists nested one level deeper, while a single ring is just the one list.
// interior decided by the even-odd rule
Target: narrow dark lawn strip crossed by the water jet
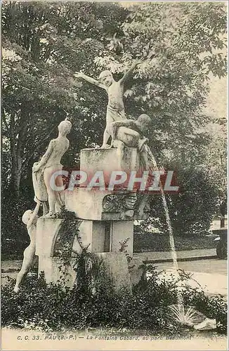
[{"label": "narrow dark lawn strip crossed by the water jet", "polygon": [[[174,237],[176,251],[215,249],[216,235]],[[162,233],[141,232],[133,235],[133,252],[170,251],[169,237]]]}]

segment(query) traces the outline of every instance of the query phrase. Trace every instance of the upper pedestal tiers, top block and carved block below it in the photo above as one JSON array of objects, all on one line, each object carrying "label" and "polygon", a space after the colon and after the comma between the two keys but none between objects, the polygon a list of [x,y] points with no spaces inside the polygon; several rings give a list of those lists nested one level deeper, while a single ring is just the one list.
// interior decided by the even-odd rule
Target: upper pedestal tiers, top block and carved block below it
[{"label": "upper pedestal tiers, top block and carved block below it", "polygon": [[[74,190],[65,190],[65,206],[74,211],[78,218],[87,220],[136,220],[148,218],[143,211],[143,197],[136,197],[136,205],[131,205],[131,192],[116,194],[114,191],[100,190],[100,187],[86,187],[89,181],[100,172],[105,180],[105,187],[110,183],[112,171],[117,171],[116,149],[84,149],[81,150],[81,171],[85,171],[88,180]],[[136,148],[125,148],[126,171],[136,171],[139,168],[139,155]],[[125,187],[128,184],[126,183]],[[112,195],[109,199],[108,197]],[[133,192],[136,196],[136,193]],[[118,198],[118,200],[117,200]],[[120,198],[120,200],[119,200]],[[144,203],[143,203],[144,202]],[[118,203],[118,206],[117,206]],[[114,206],[113,206],[114,204]],[[129,211],[131,210],[131,211]]]}]

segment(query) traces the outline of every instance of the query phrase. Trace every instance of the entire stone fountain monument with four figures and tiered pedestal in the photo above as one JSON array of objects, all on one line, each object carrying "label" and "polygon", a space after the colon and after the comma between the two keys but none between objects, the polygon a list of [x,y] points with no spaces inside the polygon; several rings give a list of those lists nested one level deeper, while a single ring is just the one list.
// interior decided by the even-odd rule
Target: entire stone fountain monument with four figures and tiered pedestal
[{"label": "entire stone fountain monument with four figures and tiered pedestal", "polygon": [[[144,133],[148,130],[151,119],[146,114],[140,115],[137,121],[126,119],[123,103],[124,81],[140,62],[134,62],[119,81],[114,81],[109,71],[102,72],[98,81],[81,73],[75,74],[78,79],[85,79],[104,88],[108,94],[103,145],[96,149],[81,150],[80,170],[87,175],[98,171],[110,175],[117,170],[129,173],[148,169],[148,139]],[[133,272],[131,282],[126,256],[120,248],[122,241],[126,241],[127,254],[133,256],[133,221],[148,217],[145,194],[124,187],[119,187],[118,190],[115,187],[110,190],[92,187],[89,190],[83,184],[74,187],[72,191],[61,190],[63,177],[60,173],[63,166],[60,161],[68,150],[67,134],[71,128],[72,124],[68,120],[59,124],[58,138],[51,140],[44,156],[32,168],[34,201],[37,206],[34,211],[26,211],[22,218],[27,225],[31,243],[25,250],[15,291],[18,291],[22,278],[30,269],[35,254],[39,256],[39,272],[44,272],[46,282],[57,282],[60,279],[60,252],[66,244],[70,249],[70,265],[65,282],[67,286],[74,284],[74,253],[80,253],[82,247],[87,247],[103,258],[116,289],[122,286],[131,289],[131,283],[136,283],[136,272]],[[109,138],[112,140],[111,145],[107,144]],[[53,190],[51,179],[56,172],[59,174],[55,178],[58,190]],[[38,218],[41,204],[43,216]],[[70,225],[70,220],[67,221],[69,228],[66,228],[63,216],[66,211],[74,213],[73,225]]]}]

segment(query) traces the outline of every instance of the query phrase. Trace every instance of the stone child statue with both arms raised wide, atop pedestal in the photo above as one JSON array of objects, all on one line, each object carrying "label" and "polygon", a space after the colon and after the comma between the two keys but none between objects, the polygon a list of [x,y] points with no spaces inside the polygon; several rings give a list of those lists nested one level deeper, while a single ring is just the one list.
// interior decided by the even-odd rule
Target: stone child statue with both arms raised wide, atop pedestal
[{"label": "stone child statue with both arms raised wide, atop pedestal", "polygon": [[131,65],[131,68],[124,74],[124,76],[119,79],[119,81],[114,81],[112,73],[110,71],[103,71],[100,73],[98,77],[98,81],[91,77],[86,76],[86,74],[75,72],[74,77],[79,79],[84,79],[91,84],[99,86],[100,88],[105,89],[108,95],[108,105],[107,105],[107,117],[106,117],[106,127],[103,133],[103,145],[102,148],[110,147],[107,145],[107,142],[110,138],[110,134],[108,133],[107,129],[109,128],[110,124],[114,121],[121,121],[122,119],[126,119],[125,111],[124,111],[124,83],[127,79],[129,79],[133,70],[140,65],[143,60],[136,60]]}]

